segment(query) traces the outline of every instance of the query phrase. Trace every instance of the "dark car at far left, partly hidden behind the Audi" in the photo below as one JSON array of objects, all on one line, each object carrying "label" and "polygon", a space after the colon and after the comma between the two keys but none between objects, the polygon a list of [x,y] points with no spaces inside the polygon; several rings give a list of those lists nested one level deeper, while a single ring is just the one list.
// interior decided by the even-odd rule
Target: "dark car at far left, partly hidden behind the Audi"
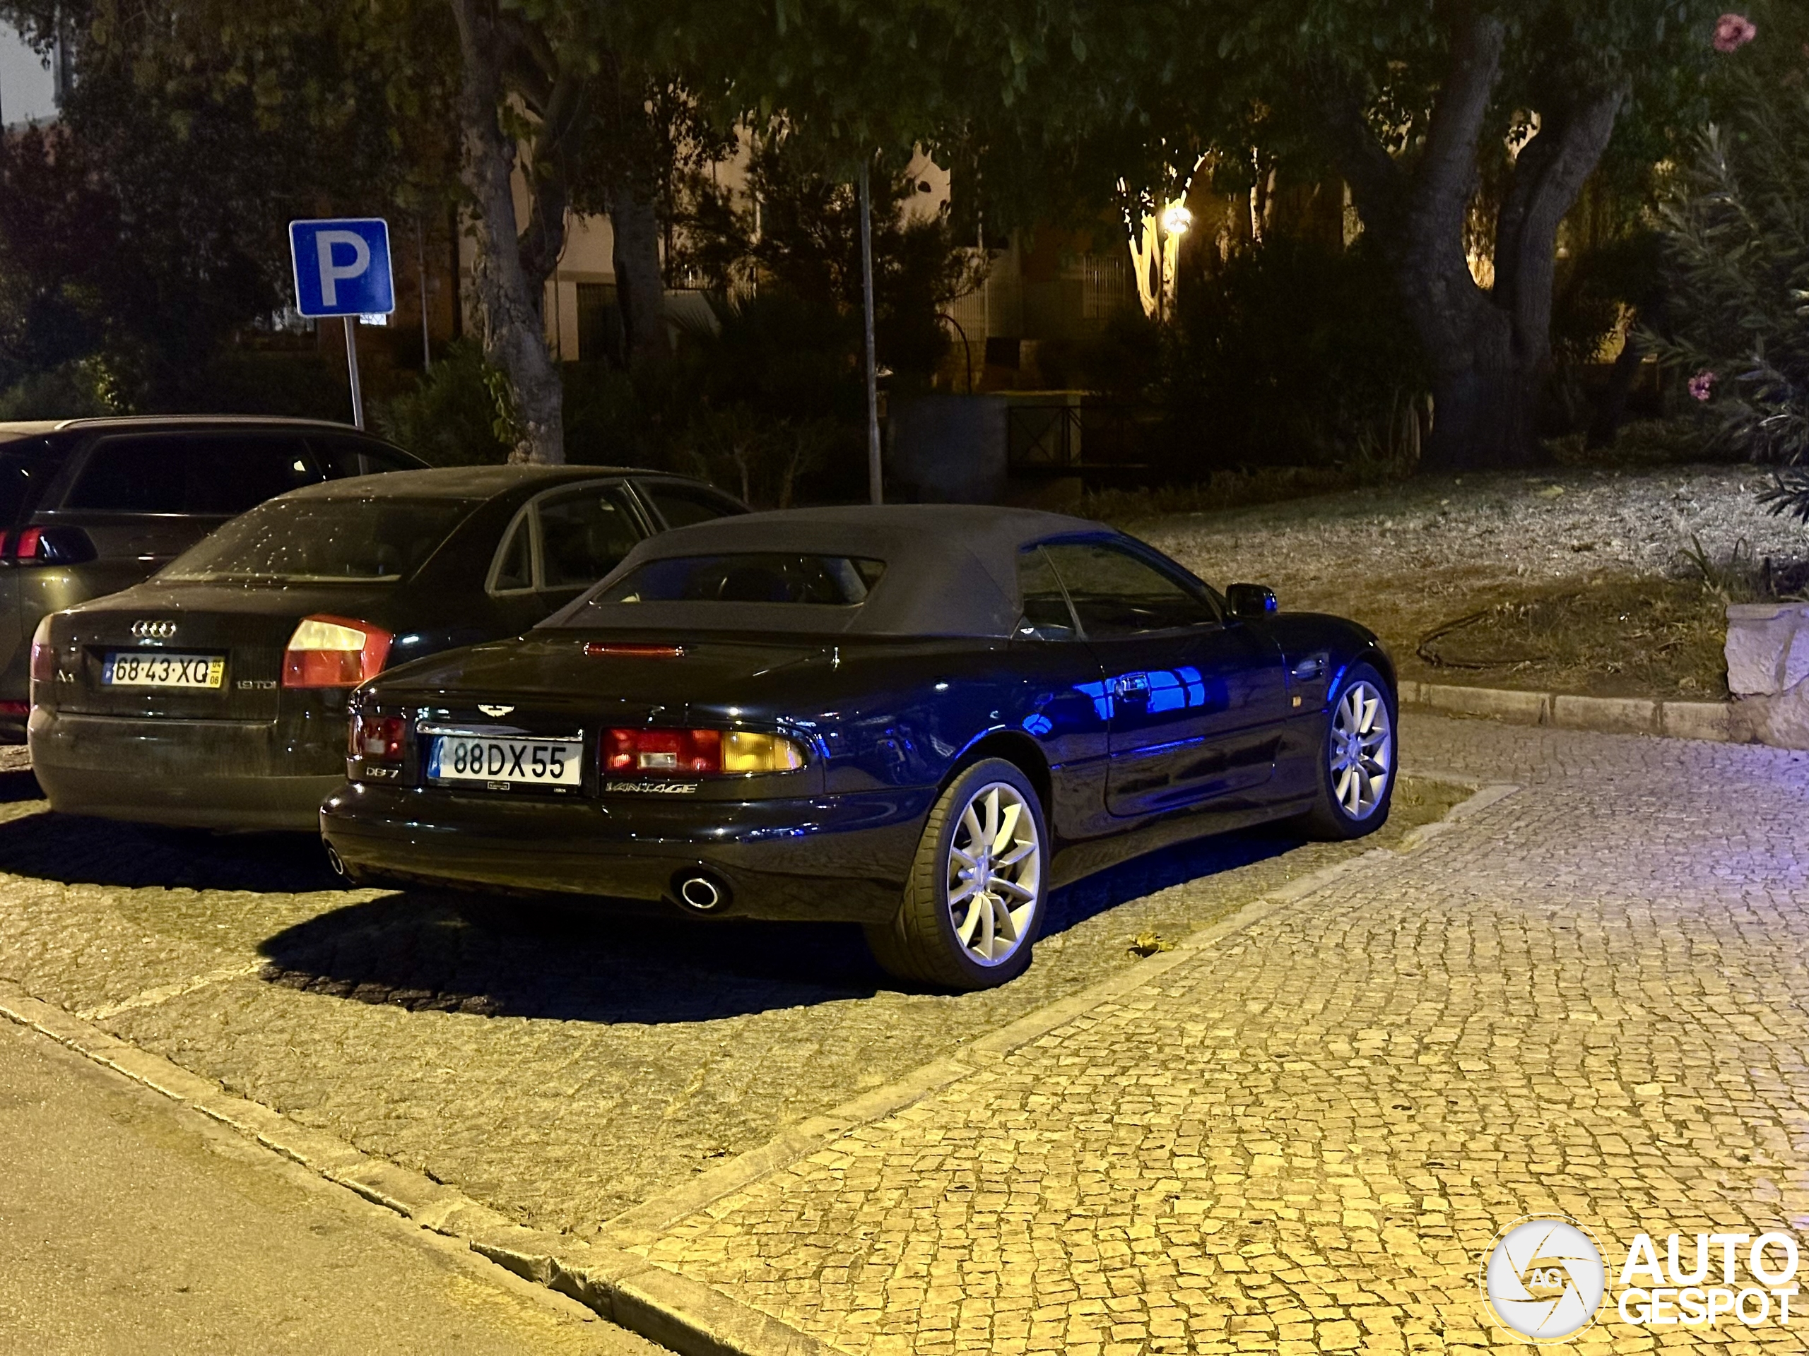
[{"label": "dark car at far left, partly hidden behind the Audi", "polygon": [[25,738],[29,642],[45,613],[137,584],[273,495],[425,465],[320,419],[0,423],[0,741]]}]

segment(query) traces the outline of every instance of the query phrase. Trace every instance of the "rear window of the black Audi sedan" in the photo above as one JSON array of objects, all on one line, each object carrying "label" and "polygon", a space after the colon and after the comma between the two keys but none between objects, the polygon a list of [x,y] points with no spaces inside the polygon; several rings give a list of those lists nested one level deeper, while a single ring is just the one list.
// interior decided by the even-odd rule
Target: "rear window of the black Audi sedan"
[{"label": "rear window of the black Audi sedan", "polygon": [[481,501],[279,499],[175,557],[163,580],[389,584],[425,564]]}]

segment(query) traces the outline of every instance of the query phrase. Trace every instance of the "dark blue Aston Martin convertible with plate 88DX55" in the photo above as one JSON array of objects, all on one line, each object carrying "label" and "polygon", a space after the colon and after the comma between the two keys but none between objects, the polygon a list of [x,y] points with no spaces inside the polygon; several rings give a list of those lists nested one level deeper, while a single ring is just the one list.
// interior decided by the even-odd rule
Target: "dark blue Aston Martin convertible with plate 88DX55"
[{"label": "dark blue Aston Martin convertible with plate 88DX55", "polygon": [[1388,817],[1395,676],[1098,523],[756,513],[640,542],[530,635],[387,669],[322,806],[355,879],[854,920],[892,973],[1029,964],[1051,886],[1187,837]]}]

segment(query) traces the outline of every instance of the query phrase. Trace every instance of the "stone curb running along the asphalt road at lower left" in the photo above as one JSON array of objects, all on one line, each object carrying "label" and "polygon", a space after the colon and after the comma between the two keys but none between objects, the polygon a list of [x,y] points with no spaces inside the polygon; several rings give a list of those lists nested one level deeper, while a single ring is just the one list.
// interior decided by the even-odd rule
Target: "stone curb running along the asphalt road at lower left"
[{"label": "stone curb running along the asphalt road at lower left", "polygon": [[262,1103],[224,1092],[219,1083],[109,1036],[99,1027],[29,996],[9,980],[0,980],[0,1016],[31,1027],[76,1054],[237,1130],[246,1139],[425,1229],[463,1238],[474,1253],[523,1280],[566,1295],[678,1356],[829,1356],[830,1352],[807,1332],[704,1282],[655,1267],[642,1257],[514,1224],[450,1186],[394,1163],[373,1159],[342,1139],[297,1125]]}]

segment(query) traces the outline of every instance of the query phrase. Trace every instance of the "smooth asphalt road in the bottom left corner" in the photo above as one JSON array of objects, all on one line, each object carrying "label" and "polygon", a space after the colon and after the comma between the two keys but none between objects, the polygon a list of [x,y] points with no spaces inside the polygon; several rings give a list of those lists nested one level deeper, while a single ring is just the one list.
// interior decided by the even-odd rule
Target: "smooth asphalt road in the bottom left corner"
[{"label": "smooth asphalt road in the bottom left corner", "polygon": [[0,1144],[4,1352],[660,1351],[11,1023]]}]

